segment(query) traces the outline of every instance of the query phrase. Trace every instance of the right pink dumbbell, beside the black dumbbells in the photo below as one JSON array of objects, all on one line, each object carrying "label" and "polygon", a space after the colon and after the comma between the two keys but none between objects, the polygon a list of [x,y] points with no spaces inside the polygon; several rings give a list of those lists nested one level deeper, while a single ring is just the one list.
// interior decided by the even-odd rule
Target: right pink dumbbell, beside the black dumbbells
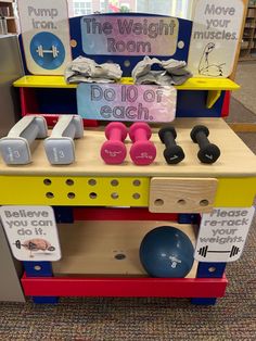
[{"label": "right pink dumbbell, beside the black dumbbells", "polygon": [[133,142],[130,149],[130,157],[137,165],[150,165],[156,156],[156,148],[151,138],[151,128],[146,123],[133,123],[129,130],[129,136]]}]

